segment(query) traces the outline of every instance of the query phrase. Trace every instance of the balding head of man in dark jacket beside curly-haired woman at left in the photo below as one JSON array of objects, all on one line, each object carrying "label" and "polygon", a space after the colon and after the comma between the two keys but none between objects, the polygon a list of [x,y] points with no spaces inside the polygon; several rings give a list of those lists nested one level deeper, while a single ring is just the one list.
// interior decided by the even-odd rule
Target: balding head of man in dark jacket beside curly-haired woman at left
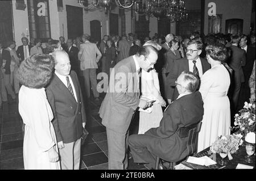
[{"label": "balding head of man in dark jacket beside curly-haired woman at left", "polygon": [[55,60],[55,71],[63,76],[69,75],[71,64],[69,61],[68,53],[64,50],[56,50],[52,55]]}]

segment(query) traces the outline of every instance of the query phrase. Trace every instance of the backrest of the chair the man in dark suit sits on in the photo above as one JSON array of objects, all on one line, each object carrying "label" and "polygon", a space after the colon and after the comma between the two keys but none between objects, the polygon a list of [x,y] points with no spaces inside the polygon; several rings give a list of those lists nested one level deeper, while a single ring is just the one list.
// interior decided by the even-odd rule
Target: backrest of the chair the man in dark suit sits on
[{"label": "backrest of the chair the man in dark suit sits on", "polygon": [[201,124],[201,121],[199,121],[199,123],[189,125],[188,127],[180,128],[180,137],[188,137],[187,155],[191,155],[197,150],[196,138],[197,134],[200,132]]}]

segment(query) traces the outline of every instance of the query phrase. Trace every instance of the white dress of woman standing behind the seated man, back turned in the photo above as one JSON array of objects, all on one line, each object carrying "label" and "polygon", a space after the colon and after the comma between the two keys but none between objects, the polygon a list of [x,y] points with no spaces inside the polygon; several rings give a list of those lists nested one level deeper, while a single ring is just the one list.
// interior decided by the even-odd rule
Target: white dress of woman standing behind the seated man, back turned
[{"label": "white dress of woman standing behind the seated man, back turned", "polygon": [[229,85],[230,77],[224,65],[213,66],[201,77],[199,91],[204,101],[204,116],[197,152],[212,145],[218,136],[230,134]]}]

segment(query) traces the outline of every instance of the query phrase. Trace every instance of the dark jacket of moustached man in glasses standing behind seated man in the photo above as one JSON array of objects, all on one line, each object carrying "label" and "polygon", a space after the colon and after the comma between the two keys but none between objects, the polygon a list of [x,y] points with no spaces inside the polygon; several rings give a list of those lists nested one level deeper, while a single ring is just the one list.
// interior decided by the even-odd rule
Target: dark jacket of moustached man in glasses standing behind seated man
[{"label": "dark jacket of moustached man in glasses standing behind seated man", "polygon": [[[200,58],[200,60],[201,60],[201,64],[202,64],[203,74],[204,74],[205,71],[210,69],[210,64],[204,58]],[[177,96],[179,96],[179,92],[177,91],[175,81],[183,71],[189,71],[188,59],[181,58],[178,60],[174,60],[174,66],[173,66],[171,72],[167,76],[167,83],[172,88],[170,90],[171,91],[170,98],[168,98],[168,99],[175,100],[177,98]]]}]

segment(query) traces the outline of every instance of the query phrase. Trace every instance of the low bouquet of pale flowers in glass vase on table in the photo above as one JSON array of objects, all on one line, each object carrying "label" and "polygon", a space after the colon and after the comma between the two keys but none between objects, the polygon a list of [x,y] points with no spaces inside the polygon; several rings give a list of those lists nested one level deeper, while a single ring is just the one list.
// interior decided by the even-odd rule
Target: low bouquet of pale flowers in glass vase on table
[{"label": "low bouquet of pale flowers in glass vase on table", "polygon": [[232,154],[238,150],[238,147],[242,144],[241,137],[237,135],[220,136],[210,146],[210,151],[213,153],[222,153],[223,150],[228,151],[229,160],[233,159]]}]

